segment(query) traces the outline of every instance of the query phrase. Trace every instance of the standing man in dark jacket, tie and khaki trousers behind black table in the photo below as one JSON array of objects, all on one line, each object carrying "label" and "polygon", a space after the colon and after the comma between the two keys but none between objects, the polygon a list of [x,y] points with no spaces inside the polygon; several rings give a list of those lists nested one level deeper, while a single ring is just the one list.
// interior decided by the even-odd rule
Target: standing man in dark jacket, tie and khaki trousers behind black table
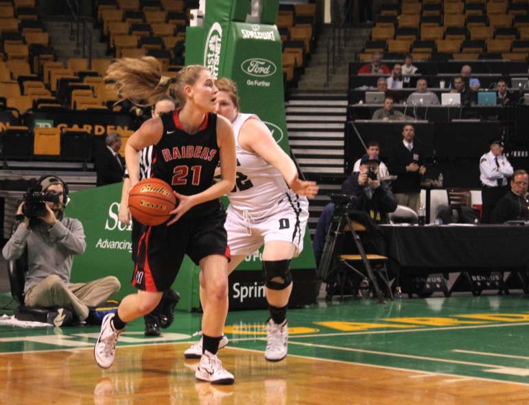
[{"label": "standing man in dark jacket, tie and khaki trousers behind black table", "polygon": [[419,213],[421,205],[421,175],[426,173],[423,151],[414,143],[415,127],[405,124],[402,129],[402,142],[390,152],[388,169],[397,179],[392,189],[397,204],[407,206]]}]

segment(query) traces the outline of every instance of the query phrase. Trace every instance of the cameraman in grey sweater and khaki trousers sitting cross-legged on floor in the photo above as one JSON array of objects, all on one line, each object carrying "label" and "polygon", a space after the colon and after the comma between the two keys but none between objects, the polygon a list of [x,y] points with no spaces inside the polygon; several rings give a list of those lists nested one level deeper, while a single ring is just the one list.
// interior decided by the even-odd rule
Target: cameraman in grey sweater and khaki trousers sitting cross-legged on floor
[{"label": "cameraman in grey sweater and khaki trousers sitting cross-legged on floor", "polygon": [[30,188],[24,195],[16,211],[21,223],[2,250],[6,260],[16,260],[27,249],[24,304],[56,307],[47,316],[54,326],[67,326],[72,321],[100,325],[108,311],[91,307],[119,291],[119,280],[108,276],[88,283],[70,283],[73,256],[86,248],[82,224],[64,216],[68,188],[62,180],[40,177],[38,189],[42,192]]}]

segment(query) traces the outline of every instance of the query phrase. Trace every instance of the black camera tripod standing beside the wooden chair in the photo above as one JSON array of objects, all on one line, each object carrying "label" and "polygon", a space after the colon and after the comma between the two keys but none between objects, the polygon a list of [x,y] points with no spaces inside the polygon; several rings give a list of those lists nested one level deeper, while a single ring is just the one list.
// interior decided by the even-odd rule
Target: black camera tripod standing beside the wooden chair
[{"label": "black camera tripod standing beside the wooden chair", "polygon": [[[359,229],[359,226],[365,230],[364,225],[351,220],[351,217],[354,216],[355,212],[358,211],[349,210],[346,208],[346,203],[350,201],[349,196],[341,196],[346,198],[346,203],[344,204],[344,198],[338,199],[337,195],[333,195],[333,201],[335,202],[335,209],[333,212],[333,217],[331,220],[331,225],[329,226],[329,231],[325,237],[325,245],[323,247],[322,256],[320,259],[320,265],[318,265],[318,278],[316,279],[316,294],[320,291],[320,286],[322,282],[327,283],[327,298],[332,297],[333,289],[336,288],[336,285],[339,286],[340,293],[343,296],[344,286],[346,284],[346,271],[347,269],[353,271],[361,278],[368,278],[370,284],[373,286],[373,293],[378,298],[381,304],[384,302],[384,293],[381,291],[375,272],[371,267],[371,262],[369,257],[373,257],[377,260],[386,260],[385,256],[379,255],[368,255],[360,241],[360,236],[357,234],[356,230]],[[353,241],[357,248],[357,251],[360,254],[360,260],[364,267],[365,273],[356,269],[347,262],[348,258],[353,257],[354,255],[342,255],[342,246],[343,246],[343,237],[345,232],[351,232],[353,236]],[[376,256],[376,257],[375,257]],[[343,271],[345,269],[345,271]],[[380,273],[380,277],[384,280],[388,288],[388,293],[392,299],[392,293],[390,284],[388,281],[388,275],[386,267],[384,265],[384,273]],[[351,283],[352,286],[352,283]]]}]

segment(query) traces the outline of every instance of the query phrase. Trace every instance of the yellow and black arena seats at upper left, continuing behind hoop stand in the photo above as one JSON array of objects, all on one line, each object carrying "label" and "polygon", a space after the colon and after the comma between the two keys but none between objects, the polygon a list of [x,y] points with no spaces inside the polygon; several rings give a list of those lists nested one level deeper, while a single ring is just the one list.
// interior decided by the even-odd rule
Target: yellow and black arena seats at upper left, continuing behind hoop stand
[{"label": "yellow and black arena seats at upper left, continuing behind hoop stand", "polygon": [[[70,169],[93,167],[93,150],[102,135],[109,130],[128,135],[137,125],[130,107],[120,111],[116,89],[104,82],[112,58],[154,56],[164,75],[174,75],[183,65],[191,8],[198,8],[198,1],[98,0],[94,20],[108,58],[60,61],[35,0],[1,1],[0,137],[8,152],[0,157],[4,169],[24,161],[38,167],[46,160],[58,167],[80,163],[69,164]],[[315,46],[316,3],[279,8],[283,77],[285,88],[292,88]],[[16,143],[25,146],[16,151]]]}]

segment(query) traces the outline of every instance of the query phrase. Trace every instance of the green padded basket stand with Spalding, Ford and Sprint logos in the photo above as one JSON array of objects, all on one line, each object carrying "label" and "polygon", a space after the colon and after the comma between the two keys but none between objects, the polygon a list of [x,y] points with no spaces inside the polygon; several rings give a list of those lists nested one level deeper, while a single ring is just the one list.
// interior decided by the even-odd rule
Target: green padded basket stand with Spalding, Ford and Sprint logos
[{"label": "green padded basket stand with Spalding, Ford and Sprint logos", "polygon": [[[187,28],[186,41],[192,37],[187,43],[193,46],[186,46],[185,63],[202,64],[215,77],[232,79],[239,90],[241,111],[257,114],[289,153],[281,38],[275,25],[279,0],[205,3],[204,25]],[[263,294],[260,255],[246,260],[230,276],[230,308],[257,306],[252,301],[255,291],[259,297]],[[308,229],[303,252],[292,260],[291,268],[294,289],[290,305],[316,302],[316,262]]]}]

